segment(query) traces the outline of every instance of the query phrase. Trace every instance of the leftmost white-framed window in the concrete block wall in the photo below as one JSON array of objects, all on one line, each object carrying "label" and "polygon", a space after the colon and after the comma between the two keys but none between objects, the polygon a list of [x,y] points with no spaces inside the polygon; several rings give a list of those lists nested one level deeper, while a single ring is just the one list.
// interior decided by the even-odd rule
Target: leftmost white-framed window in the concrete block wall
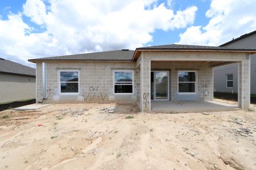
[{"label": "leftmost white-framed window in the concrete block wall", "polygon": [[60,93],[77,94],[79,92],[79,71],[60,71]]}]

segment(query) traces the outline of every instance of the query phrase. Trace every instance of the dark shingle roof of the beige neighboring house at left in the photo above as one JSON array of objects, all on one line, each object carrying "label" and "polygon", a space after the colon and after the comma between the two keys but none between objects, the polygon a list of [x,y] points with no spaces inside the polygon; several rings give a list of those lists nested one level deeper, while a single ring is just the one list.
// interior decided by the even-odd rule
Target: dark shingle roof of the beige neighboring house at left
[{"label": "dark shingle roof of the beige neighboring house at left", "polygon": [[35,72],[36,70],[31,67],[0,58],[0,73],[35,76]]}]

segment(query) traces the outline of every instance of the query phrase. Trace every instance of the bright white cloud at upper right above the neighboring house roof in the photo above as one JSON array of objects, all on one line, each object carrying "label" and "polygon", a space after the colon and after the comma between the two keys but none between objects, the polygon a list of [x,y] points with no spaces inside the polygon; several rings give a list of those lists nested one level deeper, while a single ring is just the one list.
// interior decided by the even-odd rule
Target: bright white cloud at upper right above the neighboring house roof
[{"label": "bright white cloud at upper right above the neighboring house roof", "polygon": [[256,29],[255,1],[212,0],[206,16],[209,23],[191,26],[177,44],[220,45]]}]

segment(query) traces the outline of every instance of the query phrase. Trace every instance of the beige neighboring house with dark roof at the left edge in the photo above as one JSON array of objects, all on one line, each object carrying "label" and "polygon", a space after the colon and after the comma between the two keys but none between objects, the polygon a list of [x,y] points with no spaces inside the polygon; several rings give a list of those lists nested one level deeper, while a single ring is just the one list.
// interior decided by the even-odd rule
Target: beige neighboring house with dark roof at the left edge
[{"label": "beige neighboring house with dark roof at the left edge", "polygon": [[36,70],[0,58],[0,104],[36,97]]}]

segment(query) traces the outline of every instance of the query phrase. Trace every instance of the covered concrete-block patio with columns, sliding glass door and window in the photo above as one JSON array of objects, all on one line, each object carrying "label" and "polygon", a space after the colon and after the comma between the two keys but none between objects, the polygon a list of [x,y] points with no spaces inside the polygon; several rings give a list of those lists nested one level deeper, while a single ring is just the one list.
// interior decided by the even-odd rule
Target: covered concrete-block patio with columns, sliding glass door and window
[{"label": "covered concrete-block patio with columns, sliding glass door and window", "polygon": [[[176,49],[175,45],[161,47],[139,49],[137,54],[141,80],[138,103],[143,112],[220,112],[250,108],[250,53],[204,47]],[[213,68],[230,63],[238,65],[238,105],[213,100]]]}]

